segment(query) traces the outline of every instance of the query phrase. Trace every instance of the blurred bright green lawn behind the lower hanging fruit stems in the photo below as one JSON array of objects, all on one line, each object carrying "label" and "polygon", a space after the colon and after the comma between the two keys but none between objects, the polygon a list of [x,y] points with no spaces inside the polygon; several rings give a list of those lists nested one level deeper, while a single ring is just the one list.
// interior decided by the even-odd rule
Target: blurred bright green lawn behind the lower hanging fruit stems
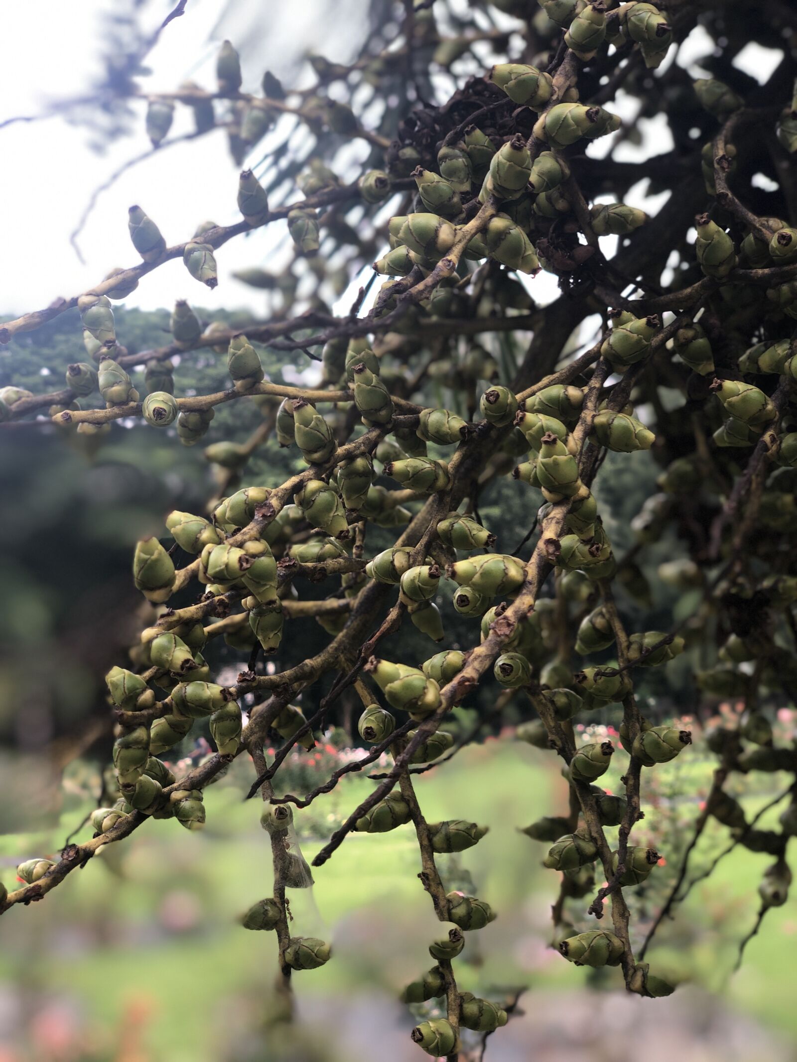
[{"label": "blurred bright green lawn behind the lower hanging fruit stems", "polygon": [[[245,765],[239,771],[245,774]],[[660,772],[663,789],[668,782],[681,792],[708,785],[708,767],[697,758]],[[669,778],[667,772],[673,772]],[[273,970],[273,937],[247,932],[235,922],[236,914],[270,893],[270,850],[257,822],[259,802],[243,803],[235,781],[207,791],[202,835],[174,821],[153,820],[129,841],[103,850],[43,903],[3,917],[0,978],[18,980],[23,972],[27,988],[43,993],[68,987],[86,1021],[100,1029],[118,1027],[132,1007],[146,1005],[151,1007],[148,1038],[157,1044],[157,1057],[170,1062],[218,1058],[217,1030],[231,1012],[245,1013],[253,993],[259,1006],[268,1001]],[[354,777],[322,798],[313,810],[316,829],[328,815],[330,833],[371,785]],[[429,821],[462,818],[491,826],[475,849],[441,857],[441,869],[455,875],[457,886],[465,878],[456,875],[470,872],[474,891],[499,912],[488,929],[469,937],[458,963],[462,988],[485,992],[581,983],[583,971],[545,948],[547,908],[556,890],[555,876],[541,868],[545,849],[516,832],[540,815],[564,808],[565,786],[552,757],[489,741],[420,776],[417,789]],[[748,810],[765,800],[751,798]],[[51,851],[81,813],[75,808],[65,813],[51,836],[1,837],[0,859],[7,866],[4,857]],[[655,816],[648,810],[650,822]],[[302,812],[296,823],[301,834]],[[707,850],[724,839],[712,826]],[[321,843],[303,842],[305,855],[311,858]],[[452,859],[458,864],[446,868]],[[752,923],[756,886],[769,861],[736,851],[720,863],[678,921],[663,930],[661,946],[648,955],[654,967],[723,989],[733,960],[731,943]],[[335,960],[322,970],[298,975],[301,994],[374,989],[392,994],[431,964],[425,947],[439,923],[416,876],[419,869],[409,826],[354,835],[315,872],[311,892],[290,893],[294,931],[332,939],[336,949]],[[13,870],[0,876],[12,887]],[[588,904],[572,902],[572,917],[578,919]],[[797,1035],[788,948],[795,929],[797,896],[770,912],[728,991],[740,1007]],[[615,972],[607,977],[610,986],[616,980]]]}]

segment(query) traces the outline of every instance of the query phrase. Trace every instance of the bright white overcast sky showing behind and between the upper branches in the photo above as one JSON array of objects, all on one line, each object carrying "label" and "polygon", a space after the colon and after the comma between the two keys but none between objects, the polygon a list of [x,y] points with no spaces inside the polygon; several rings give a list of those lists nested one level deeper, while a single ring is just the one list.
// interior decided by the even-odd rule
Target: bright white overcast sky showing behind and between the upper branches
[{"label": "bright white overcast sky showing behind and between the upper branches", "polygon": [[[97,72],[100,18],[120,0],[28,0],[0,2],[0,122],[14,115],[38,114],[49,100],[85,90]],[[214,85],[214,57],[228,36],[241,52],[243,88],[257,91],[266,68],[294,84],[304,52],[321,51],[343,61],[359,36],[356,13],[364,0],[188,0],[186,14],[164,31],[149,57],[151,78],[142,87],[169,89],[186,76]],[[151,0],[148,11],[163,18],[174,0]],[[678,63],[693,76],[695,63],[711,47],[698,29],[681,47]],[[780,57],[751,45],[737,65],[763,80]],[[669,62],[669,59],[667,61]],[[631,101],[626,98],[627,104]],[[46,306],[57,295],[71,296],[89,288],[114,267],[138,260],[128,235],[126,210],[140,203],[157,222],[168,243],[187,239],[200,221],[219,224],[238,220],[235,198],[237,168],[226,151],[222,132],[196,142],[177,144],[126,172],[104,192],[80,243],[81,264],[69,245],[87,199],[121,162],[149,147],[143,132],[145,104],[133,136],[97,155],[82,127],[56,117],[0,129],[0,222],[4,236],[0,276],[0,313],[20,313]],[[172,132],[188,132],[188,115],[177,109]],[[631,117],[620,99],[616,109]],[[665,123],[647,123],[642,149],[624,143],[617,158],[639,157],[667,150]],[[609,138],[590,147],[603,154]],[[260,152],[261,153],[261,152]],[[257,149],[253,157],[260,154]],[[655,211],[644,187],[626,196],[633,205]],[[283,225],[284,223],[277,223]],[[276,227],[276,226],[274,226]],[[192,280],[181,261],[167,262],[145,277],[128,299],[129,306],[153,309],[189,298],[216,306],[250,306],[262,310],[258,293],[230,277],[244,266],[273,266],[274,233],[257,232],[231,241],[218,254],[220,284],[210,292]],[[531,282],[539,302],[556,295],[556,278],[540,274]]]}]

